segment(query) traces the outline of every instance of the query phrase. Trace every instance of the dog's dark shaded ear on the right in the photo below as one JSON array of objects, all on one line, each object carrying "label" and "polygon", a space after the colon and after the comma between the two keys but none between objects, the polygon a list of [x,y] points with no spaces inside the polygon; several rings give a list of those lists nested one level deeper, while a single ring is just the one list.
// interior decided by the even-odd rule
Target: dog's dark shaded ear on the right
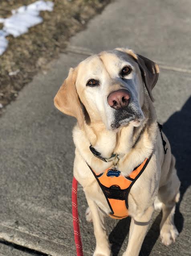
[{"label": "dog's dark shaded ear on the right", "polygon": [[158,80],[159,67],[155,62],[149,60],[148,58],[145,58],[144,56],[141,56],[139,54],[136,54],[136,56],[138,57],[137,62],[141,71],[144,85],[147,89],[150,99],[152,100],[152,102],[154,102],[154,98],[152,97],[152,89],[154,88],[154,85]]}]

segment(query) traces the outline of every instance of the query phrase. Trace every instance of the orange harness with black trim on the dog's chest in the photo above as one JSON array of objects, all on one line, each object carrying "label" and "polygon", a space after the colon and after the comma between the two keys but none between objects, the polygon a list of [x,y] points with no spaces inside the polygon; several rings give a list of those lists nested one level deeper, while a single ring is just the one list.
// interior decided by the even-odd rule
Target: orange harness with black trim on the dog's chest
[{"label": "orange harness with black trim on the dog's chest", "polygon": [[91,169],[95,179],[98,181],[104,196],[110,206],[109,216],[113,219],[123,219],[129,216],[128,213],[128,194],[132,185],[145,170],[150,158],[146,158],[142,164],[138,165],[128,177],[121,175],[117,169],[106,169],[100,175]]}]

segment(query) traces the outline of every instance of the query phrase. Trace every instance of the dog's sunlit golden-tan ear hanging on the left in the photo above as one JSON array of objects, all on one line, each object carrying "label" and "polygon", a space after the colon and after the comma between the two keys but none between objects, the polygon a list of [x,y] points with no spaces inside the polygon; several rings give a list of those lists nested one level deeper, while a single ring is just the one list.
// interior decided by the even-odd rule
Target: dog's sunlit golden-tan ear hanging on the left
[{"label": "dog's sunlit golden-tan ear hanging on the left", "polygon": [[61,85],[59,91],[54,98],[55,106],[64,114],[75,117],[79,128],[83,127],[83,111],[79,101],[79,97],[75,87],[77,78],[77,69],[70,69],[68,77]]}]

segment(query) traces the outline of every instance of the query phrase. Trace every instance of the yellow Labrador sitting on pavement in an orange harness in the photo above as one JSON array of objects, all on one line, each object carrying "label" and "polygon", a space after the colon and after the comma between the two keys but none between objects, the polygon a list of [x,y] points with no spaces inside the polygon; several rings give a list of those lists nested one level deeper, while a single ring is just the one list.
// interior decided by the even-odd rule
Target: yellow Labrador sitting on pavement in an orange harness
[{"label": "yellow Labrador sitting on pavement in an orange harness", "polygon": [[90,56],[71,68],[54,103],[77,119],[74,177],[83,186],[93,221],[93,256],[111,254],[104,216],[131,216],[123,256],[138,256],[154,208],[162,208],[162,243],[175,241],[180,181],[169,141],[157,123],[153,61],[126,48]]}]

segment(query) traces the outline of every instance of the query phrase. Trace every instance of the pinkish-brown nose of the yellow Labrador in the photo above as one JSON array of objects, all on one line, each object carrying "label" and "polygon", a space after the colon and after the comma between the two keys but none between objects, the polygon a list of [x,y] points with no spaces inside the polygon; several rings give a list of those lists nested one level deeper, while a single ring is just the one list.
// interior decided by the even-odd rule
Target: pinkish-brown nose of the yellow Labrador
[{"label": "pinkish-brown nose of the yellow Labrador", "polygon": [[108,96],[108,104],[111,108],[120,109],[129,104],[130,94],[126,89],[120,89],[112,92]]}]

